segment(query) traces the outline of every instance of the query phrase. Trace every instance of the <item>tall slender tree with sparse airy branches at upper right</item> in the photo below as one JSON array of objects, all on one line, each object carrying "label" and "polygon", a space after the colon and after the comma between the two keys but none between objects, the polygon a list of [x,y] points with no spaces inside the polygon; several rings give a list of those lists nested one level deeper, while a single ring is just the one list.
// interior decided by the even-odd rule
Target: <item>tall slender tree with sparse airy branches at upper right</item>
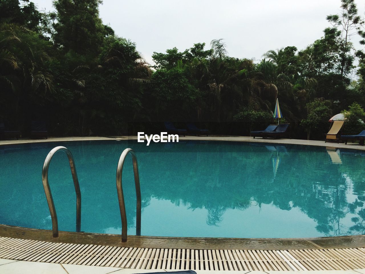
[{"label": "tall slender tree with sparse airy branches at upper right", "polygon": [[362,24],[354,0],[341,2],[341,14],[327,16],[332,26],[324,36],[298,53],[301,75],[317,80],[316,96],[333,100],[336,112],[351,103],[347,92],[356,52],[351,38]]}]

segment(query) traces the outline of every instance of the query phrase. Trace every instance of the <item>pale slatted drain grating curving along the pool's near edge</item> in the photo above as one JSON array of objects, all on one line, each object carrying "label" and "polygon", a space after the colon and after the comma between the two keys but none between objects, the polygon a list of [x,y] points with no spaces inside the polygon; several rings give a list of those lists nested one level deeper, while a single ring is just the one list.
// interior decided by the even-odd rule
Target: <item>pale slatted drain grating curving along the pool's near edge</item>
[{"label": "pale slatted drain grating curving along the pool's near edge", "polygon": [[365,268],[365,248],[194,250],[52,243],[0,237],[0,258],[131,269],[348,270]]}]

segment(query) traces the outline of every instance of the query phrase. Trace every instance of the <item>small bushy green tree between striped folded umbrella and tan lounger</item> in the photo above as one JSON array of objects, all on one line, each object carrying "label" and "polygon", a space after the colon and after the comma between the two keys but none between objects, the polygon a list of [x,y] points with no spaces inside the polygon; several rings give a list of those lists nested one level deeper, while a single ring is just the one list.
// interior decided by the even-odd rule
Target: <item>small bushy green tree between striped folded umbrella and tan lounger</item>
[{"label": "small bushy green tree between striped folded umbrella and tan lounger", "polygon": [[302,119],[300,125],[307,132],[307,140],[310,139],[311,132],[314,129],[319,129],[321,124],[323,125],[328,118],[328,102],[321,99],[316,99],[310,103],[307,103],[307,118]]}]

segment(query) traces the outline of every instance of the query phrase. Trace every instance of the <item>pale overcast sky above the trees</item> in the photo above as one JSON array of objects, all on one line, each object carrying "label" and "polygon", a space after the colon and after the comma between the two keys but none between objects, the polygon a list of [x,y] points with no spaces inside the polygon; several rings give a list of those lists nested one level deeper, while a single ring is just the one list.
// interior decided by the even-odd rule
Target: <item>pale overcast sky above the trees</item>
[{"label": "pale overcast sky above the trees", "polygon": [[[39,9],[53,11],[51,0],[32,0]],[[364,16],[365,1],[355,1]],[[296,46],[299,50],[323,36],[329,14],[339,14],[341,0],[104,0],[100,17],[115,33],[137,45],[146,61],[153,52],[194,43],[210,48],[223,38],[228,54],[261,60],[270,49]]]}]

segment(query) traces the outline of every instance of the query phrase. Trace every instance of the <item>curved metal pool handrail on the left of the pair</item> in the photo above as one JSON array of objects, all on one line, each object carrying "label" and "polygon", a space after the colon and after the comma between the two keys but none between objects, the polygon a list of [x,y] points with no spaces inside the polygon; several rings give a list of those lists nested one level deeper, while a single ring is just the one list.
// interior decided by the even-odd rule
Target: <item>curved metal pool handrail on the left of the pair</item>
[{"label": "curved metal pool handrail on the left of the pair", "polygon": [[43,170],[42,170],[43,188],[45,189],[49,212],[51,213],[51,218],[52,218],[53,237],[58,237],[58,221],[57,221],[56,209],[53,203],[51,189],[48,183],[48,168],[53,155],[57,151],[65,152],[69,159],[73,184],[75,186],[75,191],[76,191],[76,232],[80,232],[81,230],[81,192],[80,192],[80,185],[78,184],[74,159],[72,153],[67,148],[65,148],[64,146],[56,146],[48,153],[45,163],[43,164]]}]

